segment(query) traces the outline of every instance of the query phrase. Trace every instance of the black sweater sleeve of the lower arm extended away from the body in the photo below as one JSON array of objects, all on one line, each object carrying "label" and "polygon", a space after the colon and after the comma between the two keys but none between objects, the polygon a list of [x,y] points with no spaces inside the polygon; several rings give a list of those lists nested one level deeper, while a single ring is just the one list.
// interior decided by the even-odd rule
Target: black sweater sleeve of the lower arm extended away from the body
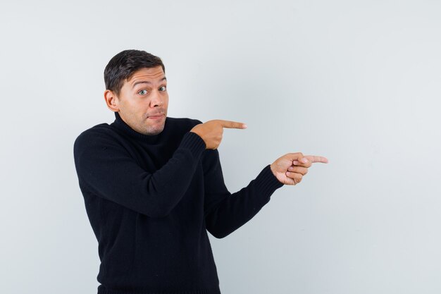
[{"label": "black sweater sleeve of the lower arm extended away from the body", "polygon": [[268,164],[247,187],[231,194],[225,187],[217,149],[206,150],[203,166],[206,229],[216,238],[224,238],[247,223],[283,185]]}]

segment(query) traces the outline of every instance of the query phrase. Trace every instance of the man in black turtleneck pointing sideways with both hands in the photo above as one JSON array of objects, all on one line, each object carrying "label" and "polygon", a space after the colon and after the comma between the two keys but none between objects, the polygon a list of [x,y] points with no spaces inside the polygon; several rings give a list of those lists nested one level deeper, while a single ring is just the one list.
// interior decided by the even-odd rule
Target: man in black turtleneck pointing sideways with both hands
[{"label": "man in black turtleneck pointing sideways with both hands", "polygon": [[220,293],[206,231],[224,238],[247,223],[282,185],[296,185],[324,157],[289,153],[247,187],[225,187],[216,149],[235,121],[167,116],[165,67],[125,50],[104,71],[115,121],[82,132],[75,169],[101,265],[98,293]]}]

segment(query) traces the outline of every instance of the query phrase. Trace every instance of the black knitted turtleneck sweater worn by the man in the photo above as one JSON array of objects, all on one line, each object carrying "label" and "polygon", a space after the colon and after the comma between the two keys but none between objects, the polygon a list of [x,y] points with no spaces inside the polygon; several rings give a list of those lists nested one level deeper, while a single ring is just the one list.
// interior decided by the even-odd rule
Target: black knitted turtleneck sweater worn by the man
[{"label": "black knitted turtleneck sweater worn by the man", "polygon": [[232,233],[283,184],[268,164],[230,193],[218,150],[190,132],[201,121],[166,117],[161,133],[144,135],[115,116],[82,132],[73,148],[98,240],[98,293],[220,293],[206,231]]}]

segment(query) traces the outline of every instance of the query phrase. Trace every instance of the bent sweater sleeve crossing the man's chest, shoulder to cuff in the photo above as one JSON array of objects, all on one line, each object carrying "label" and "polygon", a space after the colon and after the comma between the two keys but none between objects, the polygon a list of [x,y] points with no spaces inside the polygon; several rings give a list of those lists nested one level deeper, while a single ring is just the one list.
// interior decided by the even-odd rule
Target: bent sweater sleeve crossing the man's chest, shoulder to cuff
[{"label": "bent sweater sleeve crossing the man's chest, shoulder to cuff", "polygon": [[149,173],[111,135],[83,132],[74,144],[75,169],[80,186],[89,192],[140,214],[163,217],[185,194],[205,149],[204,140],[189,131],[173,157]]}]

